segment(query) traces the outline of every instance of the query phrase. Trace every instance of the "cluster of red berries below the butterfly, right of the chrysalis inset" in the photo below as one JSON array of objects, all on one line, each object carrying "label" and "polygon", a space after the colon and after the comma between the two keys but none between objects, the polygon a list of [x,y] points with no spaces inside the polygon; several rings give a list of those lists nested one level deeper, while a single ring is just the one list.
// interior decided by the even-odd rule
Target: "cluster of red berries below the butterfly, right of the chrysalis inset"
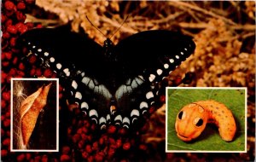
[{"label": "cluster of red berries below the butterfly, right of the chrysalis inset", "polygon": [[[143,159],[142,155],[147,153],[148,146],[140,135],[117,129],[114,125],[102,132],[79,108],[74,108],[69,117],[67,138],[77,153],[62,152],[61,159],[129,161],[132,158]],[[70,146],[65,147],[70,149]]]}]

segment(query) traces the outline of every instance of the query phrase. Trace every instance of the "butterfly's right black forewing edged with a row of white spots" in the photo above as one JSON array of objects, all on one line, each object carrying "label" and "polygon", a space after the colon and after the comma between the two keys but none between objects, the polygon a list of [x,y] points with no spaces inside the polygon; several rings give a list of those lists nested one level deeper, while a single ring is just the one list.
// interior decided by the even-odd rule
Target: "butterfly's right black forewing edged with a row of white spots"
[{"label": "butterfly's right black forewing edged with a row of white spots", "polygon": [[150,82],[159,82],[194,50],[192,38],[161,30],[138,32],[115,48],[126,73],[137,76],[138,72],[144,72]]}]

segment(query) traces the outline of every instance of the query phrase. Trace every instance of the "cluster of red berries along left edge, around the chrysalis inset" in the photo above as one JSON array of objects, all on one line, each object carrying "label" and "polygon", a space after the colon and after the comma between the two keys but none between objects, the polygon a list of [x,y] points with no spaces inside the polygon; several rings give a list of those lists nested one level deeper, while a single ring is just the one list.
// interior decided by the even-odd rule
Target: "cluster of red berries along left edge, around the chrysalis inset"
[{"label": "cluster of red berries along left edge, around the chrysalis inset", "polygon": [[[20,35],[34,27],[26,22],[26,12],[35,3],[35,0],[3,0],[1,6],[1,159],[3,161],[48,161],[49,153],[15,153],[10,152],[10,78],[24,78],[33,75],[53,75],[49,70],[36,70],[32,74],[32,68],[22,60],[22,51],[17,47],[16,40]],[[33,58],[30,58],[30,62]],[[36,62],[36,61],[34,61]],[[50,73],[50,75],[49,75]],[[51,158],[52,159],[52,158]]]}]

